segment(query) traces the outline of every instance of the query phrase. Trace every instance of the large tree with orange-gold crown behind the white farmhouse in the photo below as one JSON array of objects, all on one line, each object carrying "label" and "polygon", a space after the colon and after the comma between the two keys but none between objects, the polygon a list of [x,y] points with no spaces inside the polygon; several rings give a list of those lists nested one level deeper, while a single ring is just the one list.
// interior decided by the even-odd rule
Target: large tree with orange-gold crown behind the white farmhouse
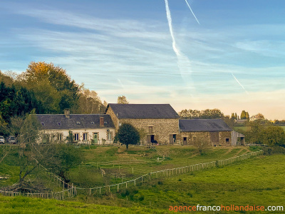
[{"label": "large tree with orange-gold crown behind the white farmhouse", "polygon": [[53,63],[31,62],[21,76],[24,86],[46,106],[46,113],[63,113],[65,108],[76,108],[79,86],[65,69]]}]

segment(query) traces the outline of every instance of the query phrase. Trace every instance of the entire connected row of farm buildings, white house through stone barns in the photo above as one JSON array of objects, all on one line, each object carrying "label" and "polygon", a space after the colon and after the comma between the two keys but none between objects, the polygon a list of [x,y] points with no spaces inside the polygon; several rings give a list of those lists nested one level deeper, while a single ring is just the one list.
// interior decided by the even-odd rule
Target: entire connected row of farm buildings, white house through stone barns
[{"label": "entire connected row of farm buildings, white house through stone barns", "polygon": [[170,104],[109,103],[104,114],[38,114],[43,137],[47,143],[56,136],[66,142],[69,131],[76,143],[113,144],[122,123],[130,123],[142,136],[142,144],[158,143],[195,145],[205,141],[212,146],[244,144],[244,135],[233,131],[222,119],[180,120]]}]

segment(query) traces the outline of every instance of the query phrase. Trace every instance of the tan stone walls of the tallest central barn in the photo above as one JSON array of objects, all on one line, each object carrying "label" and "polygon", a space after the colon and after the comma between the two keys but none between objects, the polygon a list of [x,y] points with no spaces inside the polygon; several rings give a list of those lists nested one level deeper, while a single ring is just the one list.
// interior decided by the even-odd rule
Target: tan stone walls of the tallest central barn
[{"label": "tan stone walls of the tallest central barn", "polygon": [[143,143],[157,141],[159,144],[168,144],[177,141],[179,118],[118,118],[110,107],[106,114],[112,118],[116,132],[122,123],[130,123],[138,130],[143,130],[146,133],[145,138],[140,139]]}]

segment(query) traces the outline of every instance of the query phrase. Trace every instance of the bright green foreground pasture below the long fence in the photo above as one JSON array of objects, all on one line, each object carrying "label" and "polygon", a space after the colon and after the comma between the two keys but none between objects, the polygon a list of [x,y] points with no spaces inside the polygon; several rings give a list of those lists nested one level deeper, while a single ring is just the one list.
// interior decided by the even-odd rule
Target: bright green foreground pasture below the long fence
[{"label": "bright green foreground pasture below the long fence", "polygon": [[151,180],[117,194],[78,195],[69,199],[73,202],[1,197],[0,210],[2,213],[28,213],[32,208],[34,213],[173,213],[167,209],[175,205],[284,205],[284,170],[285,156],[260,156],[222,168]]}]

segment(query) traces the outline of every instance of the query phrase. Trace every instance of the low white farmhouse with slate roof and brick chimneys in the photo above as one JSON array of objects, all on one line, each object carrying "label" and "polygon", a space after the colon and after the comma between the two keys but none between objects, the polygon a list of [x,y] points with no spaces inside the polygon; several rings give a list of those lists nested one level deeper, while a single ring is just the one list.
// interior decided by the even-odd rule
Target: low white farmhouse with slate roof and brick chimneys
[{"label": "low white farmhouse with slate roof and brick chimneys", "polygon": [[64,114],[37,114],[36,117],[41,123],[43,143],[66,142],[72,131],[75,143],[113,144],[115,126],[109,115],[71,114],[66,110]]}]

